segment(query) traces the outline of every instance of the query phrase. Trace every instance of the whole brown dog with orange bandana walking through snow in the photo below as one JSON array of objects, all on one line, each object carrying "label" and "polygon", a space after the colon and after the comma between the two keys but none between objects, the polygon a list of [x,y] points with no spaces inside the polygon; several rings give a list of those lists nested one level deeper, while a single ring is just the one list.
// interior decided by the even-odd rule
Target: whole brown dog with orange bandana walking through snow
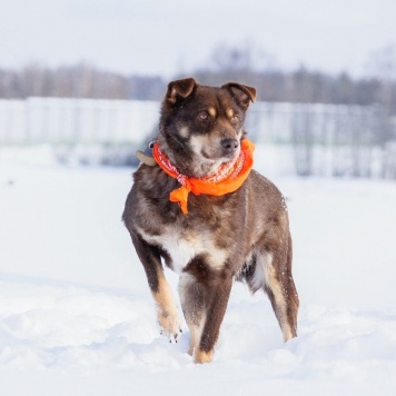
[{"label": "whole brown dog with orange bandana walking through snow", "polygon": [[[123,222],[145,268],[161,333],[181,333],[162,265],[179,274],[195,363],[210,363],[234,280],[264,290],[284,340],[297,336],[298,295],[283,195],[251,170],[246,111],[256,89],[171,81],[152,156],[133,174]],[[164,264],[162,264],[164,263]]]}]

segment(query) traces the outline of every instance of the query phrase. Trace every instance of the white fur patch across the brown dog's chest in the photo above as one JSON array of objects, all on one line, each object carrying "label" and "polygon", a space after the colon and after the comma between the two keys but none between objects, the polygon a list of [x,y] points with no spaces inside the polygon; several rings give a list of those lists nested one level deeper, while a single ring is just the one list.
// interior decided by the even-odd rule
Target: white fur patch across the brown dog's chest
[{"label": "white fur patch across the brown dog's chest", "polygon": [[172,261],[172,269],[181,274],[188,263],[196,256],[205,254],[208,264],[214,268],[221,268],[226,261],[226,250],[219,249],[208,235],[197,235],[195,231],[180,232],[172,227],[160,236],[151,236],[139,229],[139,234],[149,244],[155,244],[165,249]]}]

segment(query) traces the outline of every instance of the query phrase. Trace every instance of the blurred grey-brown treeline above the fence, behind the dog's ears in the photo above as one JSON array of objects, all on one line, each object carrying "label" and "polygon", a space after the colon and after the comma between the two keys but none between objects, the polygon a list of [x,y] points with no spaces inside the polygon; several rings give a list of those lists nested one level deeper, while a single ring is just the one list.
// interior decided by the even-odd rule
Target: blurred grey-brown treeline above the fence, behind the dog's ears
[{"label": "blurred grey-brown treeline above the fence, behind the dog's ears", "polygon": [[[379,78],[354,79],[347,73],[329,76],[299,68],[250,70],[222,68],[190,73],[199,82],[221,85],[236,80],[257,88],[258,100],[343,105],[380,103],[396,113],[396,82]],[[186,76],[175,76],[181,78]],[[71,97],[159,100],[168,81],[161,77],[123,76],[90,65],[56,69],[31,65],[20,70],[0,69],[0,98]]]}]

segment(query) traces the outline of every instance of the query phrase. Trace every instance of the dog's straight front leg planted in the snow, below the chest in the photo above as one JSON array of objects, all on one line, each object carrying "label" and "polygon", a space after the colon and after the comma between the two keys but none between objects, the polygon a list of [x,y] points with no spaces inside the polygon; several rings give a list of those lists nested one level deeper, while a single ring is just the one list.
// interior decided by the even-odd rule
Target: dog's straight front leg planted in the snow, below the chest
[{"label": "dog's straight front leg planted in the snow, below the chest", "polygon": [[[196,268],[206,268],[198,265]],[[200,274],[201,275],[201,274]],[[232,286],[230,275],[205,269],[205,277],[185,274],[180,300],[190,330],[189,354],[195,363],[210,363]]]}]

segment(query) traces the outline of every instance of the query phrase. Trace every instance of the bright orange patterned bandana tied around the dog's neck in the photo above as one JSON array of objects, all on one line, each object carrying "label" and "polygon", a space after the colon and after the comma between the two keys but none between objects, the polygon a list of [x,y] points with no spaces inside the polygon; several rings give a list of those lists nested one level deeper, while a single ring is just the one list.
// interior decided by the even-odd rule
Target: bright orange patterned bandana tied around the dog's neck
[{"label": "bright orange patterned bandana tied around the dog's neck", "polygon": [[187,200],[189,192],[194,192],[196,196],[200,194],[222,196],[236,191],[250,174],[254,150],[255,145],[248,139],[242,139],[238,158],[222,164],[216,174],[199,179],[180,174],[165,152],[161,151],[158,142],[154,145],[152,155],[162,170],[181,185],[180,188],[170,192],[169,200],[178,202],[181,211],[186,215],[188,214]]}]

